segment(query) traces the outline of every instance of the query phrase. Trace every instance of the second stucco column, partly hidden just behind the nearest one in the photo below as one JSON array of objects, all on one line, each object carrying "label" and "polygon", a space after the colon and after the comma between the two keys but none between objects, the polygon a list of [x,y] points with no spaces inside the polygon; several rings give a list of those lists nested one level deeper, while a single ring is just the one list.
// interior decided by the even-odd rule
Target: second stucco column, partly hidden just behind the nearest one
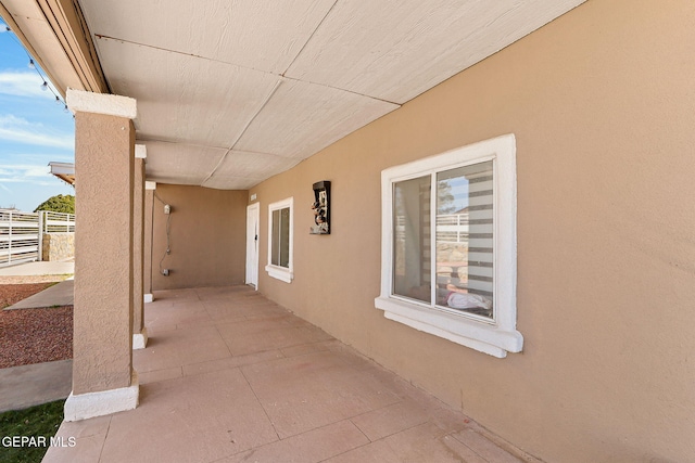
[{"label": "second stucco column, partly hidden just behind the nearest one", "polygon": [[144,159],[143,144],[135,146],[132,178],[132,348],[144,349],[148,331],[144,327]]}]

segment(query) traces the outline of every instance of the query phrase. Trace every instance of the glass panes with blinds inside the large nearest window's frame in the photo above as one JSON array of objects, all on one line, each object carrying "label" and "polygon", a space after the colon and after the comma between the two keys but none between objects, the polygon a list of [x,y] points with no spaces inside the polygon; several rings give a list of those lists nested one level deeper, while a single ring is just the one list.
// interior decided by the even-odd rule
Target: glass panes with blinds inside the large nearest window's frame
[{"label": "glass panes with blinds inside the large nearest window's frame", "polygon": [[394,183],[393,294],[492,317],[493,204],[492,160]]}]

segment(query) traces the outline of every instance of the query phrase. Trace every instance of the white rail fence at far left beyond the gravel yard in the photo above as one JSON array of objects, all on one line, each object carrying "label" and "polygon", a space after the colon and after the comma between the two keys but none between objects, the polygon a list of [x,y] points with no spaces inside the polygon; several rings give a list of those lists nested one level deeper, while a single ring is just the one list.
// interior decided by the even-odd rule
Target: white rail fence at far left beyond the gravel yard
[{"label": "white rail fence at far left beyond the gravel yard", "polygon": [[0,209],[0,267],[41,260],[43,233],[75,231],[75,215]]}]

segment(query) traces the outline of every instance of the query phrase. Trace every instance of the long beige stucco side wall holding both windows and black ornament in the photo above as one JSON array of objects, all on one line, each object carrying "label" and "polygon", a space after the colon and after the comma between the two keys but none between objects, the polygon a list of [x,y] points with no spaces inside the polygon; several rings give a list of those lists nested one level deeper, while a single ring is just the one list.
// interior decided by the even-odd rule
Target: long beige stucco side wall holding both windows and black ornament
[{"label": "long beige stucco side wall holding both windows and black ornament", "polygon": [[[548,462],[695,460],[695,3],[591,0],[251,190],[294,197],[260,290]],[[496,359],[388,321],[380,171],[517,138],[518,329]],[[332,181],[331,234],[308,234]]]}]

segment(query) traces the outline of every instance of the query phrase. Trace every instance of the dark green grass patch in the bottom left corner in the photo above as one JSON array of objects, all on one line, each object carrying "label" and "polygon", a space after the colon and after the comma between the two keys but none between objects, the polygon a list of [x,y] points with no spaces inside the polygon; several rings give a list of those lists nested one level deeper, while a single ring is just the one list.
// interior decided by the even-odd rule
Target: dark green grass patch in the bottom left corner
[{"label": "dark green grass patch in the bottom left corner", "polygon": [[[0,413],[0,463],[40,462],[63,421],[65,400]],[[12,437],[34,437],[36,442],[22,447],[12,446]],[[43,439],[39,439],[43,437]],[[37,445],[45,441],[45,445]]]}]

